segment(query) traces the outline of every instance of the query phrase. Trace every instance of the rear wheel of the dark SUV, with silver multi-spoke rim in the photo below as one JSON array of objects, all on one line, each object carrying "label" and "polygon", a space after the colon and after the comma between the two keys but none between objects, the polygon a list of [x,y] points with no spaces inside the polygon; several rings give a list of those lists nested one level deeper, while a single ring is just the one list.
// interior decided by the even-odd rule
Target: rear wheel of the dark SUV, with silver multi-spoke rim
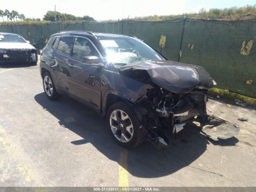
[{"label": "rear wheel of the dark SUV, with silver multi-spoke rim", "polygon": [[48,72],[45,72],[43,74],[43,86],[44,86],[44,92],[48,97],[48,99],[56,100],[61,97],[61,95],[56,92],[54,83],[52,81],[52,77]]}]

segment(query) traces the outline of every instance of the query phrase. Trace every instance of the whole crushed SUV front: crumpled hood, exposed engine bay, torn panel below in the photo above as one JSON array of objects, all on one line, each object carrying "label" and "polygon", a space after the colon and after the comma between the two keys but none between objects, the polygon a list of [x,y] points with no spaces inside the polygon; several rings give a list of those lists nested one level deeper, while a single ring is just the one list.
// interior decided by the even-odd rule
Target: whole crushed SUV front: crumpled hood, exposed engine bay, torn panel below
[{"label": "whole crushed SUV front: crumpled hood, exposed engine bay, torn panel below", "polygon": [[152,86],[141,93],[134,109],[140,114],[146,139],[157,148],[168,146],[166,134],[178,133],[195,121],[214,140],[239,132],[238,126],[207,114],[207,91],[215,82],[201,66],[149,60],[124,66],[120,72]]}]

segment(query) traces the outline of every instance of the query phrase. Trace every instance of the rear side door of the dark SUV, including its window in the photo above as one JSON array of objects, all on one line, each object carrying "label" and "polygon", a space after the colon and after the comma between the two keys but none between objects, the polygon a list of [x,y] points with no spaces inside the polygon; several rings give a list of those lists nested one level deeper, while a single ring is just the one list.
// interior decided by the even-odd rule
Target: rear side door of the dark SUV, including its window
[{"label": "rear side door of the dark SUV, including its window", "polygon": [[67,63],[71,54],[73,39],[72,36],[60,37],[58,45],[55,45],[55,51],[50,55],[56,61],[57,71],[54,72],[56,86],[64,92],[68,92],[68,76],[70,76],[70,73]]}]

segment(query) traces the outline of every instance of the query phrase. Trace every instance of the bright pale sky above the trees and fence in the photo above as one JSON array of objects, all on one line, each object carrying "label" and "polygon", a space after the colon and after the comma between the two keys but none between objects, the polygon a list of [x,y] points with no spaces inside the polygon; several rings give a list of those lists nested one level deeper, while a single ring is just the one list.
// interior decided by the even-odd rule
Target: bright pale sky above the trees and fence
[{"label": "bright pale sky above the trees and fence", "polygon": [[[23,5],[22,5],[23,4]],[[11,0],[1,10],[16,10],[27,18],[43,18],[48,10],[88,15],[96,20],[118,20],[149,15],[198,12],[201,8],[230,8],[256,4],[256,0]]]}]

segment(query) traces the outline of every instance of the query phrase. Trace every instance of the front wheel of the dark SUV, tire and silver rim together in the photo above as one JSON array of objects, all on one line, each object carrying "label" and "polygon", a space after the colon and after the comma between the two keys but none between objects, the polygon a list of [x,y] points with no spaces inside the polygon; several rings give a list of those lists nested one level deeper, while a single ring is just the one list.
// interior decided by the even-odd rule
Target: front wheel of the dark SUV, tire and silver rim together
[{"label": "front wheel of the dark SUV, tire and silver rim together", "polygon": [[124,102],[110,106],[106,123],[114,141],[124,148],[133,148],[144,140],[140,121],[132,108]]}]

